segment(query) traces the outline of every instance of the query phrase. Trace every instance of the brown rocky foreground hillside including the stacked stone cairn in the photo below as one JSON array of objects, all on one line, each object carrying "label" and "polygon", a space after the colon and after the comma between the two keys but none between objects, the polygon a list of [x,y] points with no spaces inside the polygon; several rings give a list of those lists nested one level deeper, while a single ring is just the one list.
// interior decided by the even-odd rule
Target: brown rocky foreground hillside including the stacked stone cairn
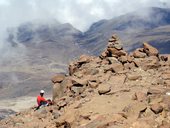
[{"label": "brown rocky foreground hillside including the stacked stone cairn", "polygon": [[148,43],[128,54],[113,35],[52,79],[54,105],[19,112],[2,128],[169,128],[170,56]]}]

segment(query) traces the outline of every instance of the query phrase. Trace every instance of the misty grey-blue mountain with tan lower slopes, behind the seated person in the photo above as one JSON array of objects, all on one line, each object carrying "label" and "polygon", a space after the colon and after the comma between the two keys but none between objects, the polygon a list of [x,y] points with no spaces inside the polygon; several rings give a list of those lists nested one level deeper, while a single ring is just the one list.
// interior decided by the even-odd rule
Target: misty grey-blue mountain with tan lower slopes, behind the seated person
[{"label": "misty grey-blue mountain with tan lower slopes, behind the seated person", "polygon": [[0,61],[0,97],[35,95],[40,89],[51,93],[50,76],[66,72],[70,60],[86,53],[77,44],[81,34],[58,22],[29,22],[8,29],[9,49],[15,54]]}]

